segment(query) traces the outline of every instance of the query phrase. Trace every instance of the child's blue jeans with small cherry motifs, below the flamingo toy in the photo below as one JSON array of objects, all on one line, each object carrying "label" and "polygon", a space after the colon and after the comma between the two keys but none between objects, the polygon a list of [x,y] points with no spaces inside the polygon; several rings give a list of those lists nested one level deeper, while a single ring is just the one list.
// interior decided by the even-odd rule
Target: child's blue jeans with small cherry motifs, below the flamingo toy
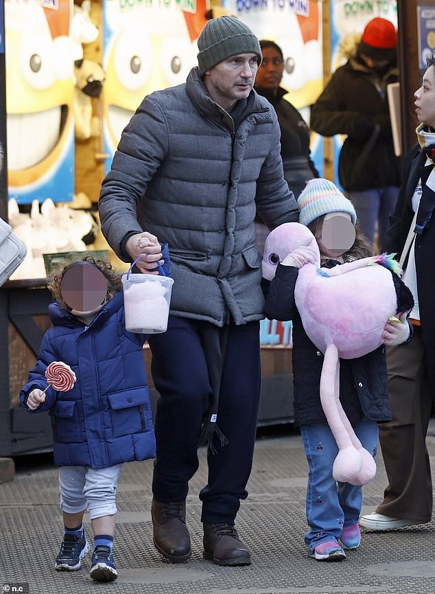
[{"label": "child's blue jeans with small cherry motifs, below the flamingo toy", "polygon": [[[362,446],[375,457],[378,428],[363,418],[354,431]],[[362,487],[337,483],[332,465],[338,447],[327,423],[301,425],[301,435],[309,466],[306,513],[309,530],[305,544],[309,551],[328,540],[338,540],[342,529],[357,523],[362,506]]]}]

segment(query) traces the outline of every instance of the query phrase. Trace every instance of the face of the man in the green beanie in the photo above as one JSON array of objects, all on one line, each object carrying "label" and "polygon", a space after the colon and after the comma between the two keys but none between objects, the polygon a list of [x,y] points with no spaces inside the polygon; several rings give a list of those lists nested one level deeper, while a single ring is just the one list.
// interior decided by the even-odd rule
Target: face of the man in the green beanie
[{"label": "face of the man in the green beanie", "polygon": [[255,82],[257,54],[231,56],[204,73],[204,84],[211,98],[226,111],[239,99],[246,99]]}]

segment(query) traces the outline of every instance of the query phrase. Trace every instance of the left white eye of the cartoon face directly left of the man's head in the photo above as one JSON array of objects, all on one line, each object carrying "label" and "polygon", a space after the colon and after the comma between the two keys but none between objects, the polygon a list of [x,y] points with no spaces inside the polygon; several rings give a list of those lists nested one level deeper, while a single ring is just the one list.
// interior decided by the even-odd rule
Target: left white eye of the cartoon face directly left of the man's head
[{"label": "left white eye of the cartoon face directly left of the man's head", "polygon": [[152,60],[152,43],[147,34],[129,29],[119,35],[115,46],[115,71],[126,89],[137,91],[145,85]]}]

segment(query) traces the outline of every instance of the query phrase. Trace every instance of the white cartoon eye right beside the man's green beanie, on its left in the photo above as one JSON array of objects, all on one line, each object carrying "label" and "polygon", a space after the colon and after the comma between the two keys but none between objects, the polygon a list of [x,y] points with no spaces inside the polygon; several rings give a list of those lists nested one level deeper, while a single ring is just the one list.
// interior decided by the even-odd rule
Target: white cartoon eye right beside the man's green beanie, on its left
[{"label": "white cartoon eye right beside the man's green beanie, on its left", "polygon": [[195,49],[195,45],[187,37],[165,38],[161,47],[161,65],[163,76],[169,85],[185,82],[190,69],[196,63]]}]

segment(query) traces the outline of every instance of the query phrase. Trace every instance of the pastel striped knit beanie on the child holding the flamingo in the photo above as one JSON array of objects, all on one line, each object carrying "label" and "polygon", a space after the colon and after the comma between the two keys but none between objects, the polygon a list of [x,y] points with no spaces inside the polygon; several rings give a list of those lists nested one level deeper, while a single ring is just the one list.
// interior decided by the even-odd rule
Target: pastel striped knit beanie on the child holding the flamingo
[{"label": "pastel striped knit beanie on the child holding the flamingo", "polygon": [[347,212],[353,225],[357,214],[351,201],[329,179],[310,179],[298,198],[299,222],[309,225],[314,219],[329,212]]}]

